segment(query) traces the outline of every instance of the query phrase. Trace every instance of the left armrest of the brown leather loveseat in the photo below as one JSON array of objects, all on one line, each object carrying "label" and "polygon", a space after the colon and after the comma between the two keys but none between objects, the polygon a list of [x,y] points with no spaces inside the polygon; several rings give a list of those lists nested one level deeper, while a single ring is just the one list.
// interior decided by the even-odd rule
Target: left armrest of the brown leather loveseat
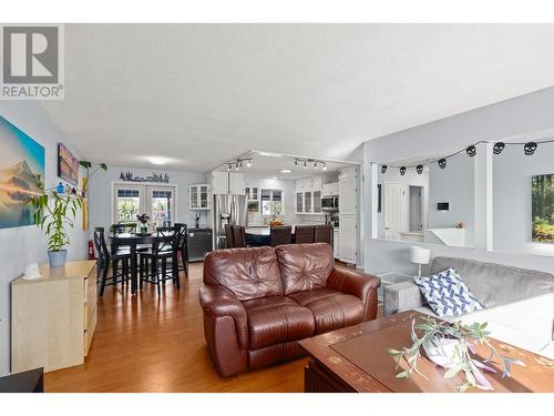
[{"label": "left armrest of the brown leather loveseat", "polygon": [[219,285],[202,285],[198,292],[204,315],[209,319],[233,317],[242,349],[248,348],[248,319],[243,303],[228,288]]}]

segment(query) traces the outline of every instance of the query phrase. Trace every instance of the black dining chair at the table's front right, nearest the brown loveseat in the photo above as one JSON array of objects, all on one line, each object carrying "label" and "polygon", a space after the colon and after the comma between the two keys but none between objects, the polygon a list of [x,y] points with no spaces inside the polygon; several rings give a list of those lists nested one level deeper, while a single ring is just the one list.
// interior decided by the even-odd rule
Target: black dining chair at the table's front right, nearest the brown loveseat
[{"label": "black dining chair at the table's front right, nearest the brown loveseat", "polygon": [[[153,283],[157,287],[157,294],[161,295],[162,288],[160,284],[165,284],[168,280],[173,281],[177,288],[181,288],[177,264],[178,232],[174,226],[158,227],[156,234],[152,240],[152,250],[138,253],[141,257],[140,287],[142,288],[144,282]],[[171,262],[170,270],[167,268],[168,262]]]}]

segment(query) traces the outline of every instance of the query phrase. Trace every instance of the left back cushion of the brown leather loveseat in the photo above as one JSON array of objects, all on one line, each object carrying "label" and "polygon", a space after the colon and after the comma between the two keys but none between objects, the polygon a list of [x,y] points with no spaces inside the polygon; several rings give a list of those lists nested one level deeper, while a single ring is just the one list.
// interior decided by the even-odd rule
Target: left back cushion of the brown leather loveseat
[{"label": "left back cushion of the brown leather loveseat", "polygon": [[227,287],[239,301],[283,295],[271,247],[217,250],[204,260],[204,283]]}]

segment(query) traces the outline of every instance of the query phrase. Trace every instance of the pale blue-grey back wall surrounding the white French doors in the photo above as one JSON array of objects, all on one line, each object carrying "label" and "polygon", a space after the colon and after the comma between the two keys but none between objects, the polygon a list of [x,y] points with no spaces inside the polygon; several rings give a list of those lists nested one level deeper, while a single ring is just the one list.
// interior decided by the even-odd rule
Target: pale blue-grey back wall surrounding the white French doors
[{"label": "pale blue-grey back wall surrounding the white French doors", "polygon": [[[202,213],[201,225],[206,224],[205,211],[188,210],[188,186],[206,183],[206,175],[201,172],[168,171],[164,169],[135,169],[122,166],[107,166],[107,171],[99,171],[91,180],[89,193],[89,224],[91,232],[95,226],[107,229],[112,222],[112,183],[120,181],[121,172],[131,171],[138,176],[155,173],[167,173],[170,183],[177,185],[177,222],[194,226],[195,214]],[[132,182],[130,182],[132,183]]]}]

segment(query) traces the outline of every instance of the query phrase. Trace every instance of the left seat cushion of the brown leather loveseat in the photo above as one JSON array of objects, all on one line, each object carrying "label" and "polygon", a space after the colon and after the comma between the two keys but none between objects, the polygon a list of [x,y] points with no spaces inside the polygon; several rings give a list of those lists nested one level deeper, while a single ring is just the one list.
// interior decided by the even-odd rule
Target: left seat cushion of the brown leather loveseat
[{"label": "left seat cushion of the brown leather loveseat", "polygon": [[244,305],[250,351],[314,335],[314,315],[293,300],[275,296],[245,302]]}]

